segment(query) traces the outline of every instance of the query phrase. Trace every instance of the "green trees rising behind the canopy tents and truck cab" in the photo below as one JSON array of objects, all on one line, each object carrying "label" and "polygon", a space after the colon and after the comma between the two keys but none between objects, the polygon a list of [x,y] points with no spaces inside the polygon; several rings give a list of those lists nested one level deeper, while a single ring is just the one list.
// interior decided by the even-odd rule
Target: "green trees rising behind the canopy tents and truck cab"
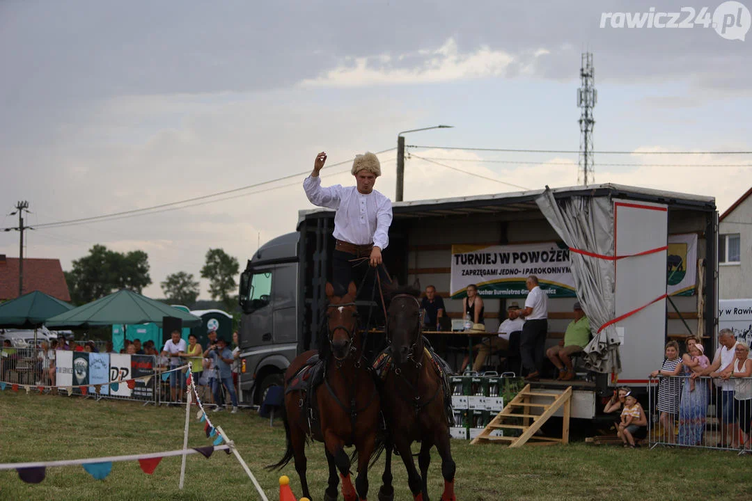
[{"label": "green trees rising behind the canopy tents and truck cab", "polygon": [[[223,249],[209,249],[200,273],[201,278],[209,281],[213,300],[221,301],[227,311],[238,306],[237,258]],[[88,255],[73,261],[71,270],[65,272],[65,280],[75,304],[90,303],[122,288],[141,294],[144,287],[152,284],[149,256],[141,250],[116,252],[97,244],[89,249]],[[170,303],[191,307],[199,298],[199,281],[193,273],[171,273],[159,285]]]}]

